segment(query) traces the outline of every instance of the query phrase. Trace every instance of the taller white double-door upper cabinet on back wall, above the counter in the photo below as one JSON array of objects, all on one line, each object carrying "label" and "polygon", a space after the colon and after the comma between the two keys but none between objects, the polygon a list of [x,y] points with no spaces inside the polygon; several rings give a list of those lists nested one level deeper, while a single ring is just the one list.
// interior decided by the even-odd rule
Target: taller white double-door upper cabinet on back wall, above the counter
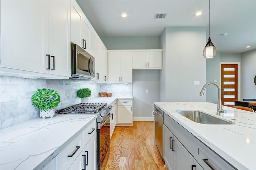
[{"label": "taller white double-door upper cabinet on back wall, above the counter", "polygon": [[108,82],[132,83],[132,52],[108,52]]}]

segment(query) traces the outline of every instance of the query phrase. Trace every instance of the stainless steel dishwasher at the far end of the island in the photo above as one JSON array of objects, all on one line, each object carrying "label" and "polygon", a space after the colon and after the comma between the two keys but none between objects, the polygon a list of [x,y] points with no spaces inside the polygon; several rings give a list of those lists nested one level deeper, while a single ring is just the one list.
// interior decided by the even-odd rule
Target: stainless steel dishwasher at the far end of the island
[{"label": "stainless steel dishwasher at the far end of the island", "polygon": [[158,148],[160,155],[163,158],[163,122],[164,122],[164,112],[154,105],[154,135],[155,144]]}]

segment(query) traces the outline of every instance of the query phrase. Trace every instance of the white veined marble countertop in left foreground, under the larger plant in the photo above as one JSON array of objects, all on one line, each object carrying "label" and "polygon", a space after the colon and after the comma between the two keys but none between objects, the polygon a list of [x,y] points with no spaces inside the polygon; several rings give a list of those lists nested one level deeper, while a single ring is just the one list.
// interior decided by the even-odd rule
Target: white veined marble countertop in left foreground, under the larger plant
[{"label": "white veined marble countertop in left foreground, under the larger plant", "polygon": [[41,170],[95,121],[96,117],[96,115],[54,115],[53,118],[46,119],[38,117],[0,130],[0,169]]}]

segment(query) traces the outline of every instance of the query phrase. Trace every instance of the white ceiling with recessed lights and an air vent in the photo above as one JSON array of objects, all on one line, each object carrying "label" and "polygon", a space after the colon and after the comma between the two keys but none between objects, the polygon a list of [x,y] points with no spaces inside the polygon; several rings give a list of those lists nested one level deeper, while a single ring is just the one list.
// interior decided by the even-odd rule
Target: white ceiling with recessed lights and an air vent
[{"label": "white ceiling with recessed lights and an air vent", "polygon": [[[203,26],[208,40],[208,0],[77,1],[100,37],[160,36],[165,27]],[[194,16],[198,11],[202,15]],[[154,20],[156,13],[168,14],[166,19]],[[217,52],[256,49],[256,0],[210,0],[210,37]]]}]

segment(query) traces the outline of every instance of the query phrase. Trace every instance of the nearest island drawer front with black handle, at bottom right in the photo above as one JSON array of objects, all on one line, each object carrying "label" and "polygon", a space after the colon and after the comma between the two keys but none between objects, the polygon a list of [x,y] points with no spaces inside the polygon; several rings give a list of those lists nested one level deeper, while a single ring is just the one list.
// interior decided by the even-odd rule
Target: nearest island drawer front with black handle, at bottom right
[{"label": "nearest island drawer front with black handle, at bottom right", "polygon": [[[196,142],[196,146],[198,149],[198,153],[194,154],[193,156],[197,160],[197,162],[202,166],[202,168],[204,168],[205,170],[211,170],[210,166],[216,170],[234,170],[235,169],[199,140],[198,142]],[[204,160],[209,165],[207,165],[207,163]]]}]

